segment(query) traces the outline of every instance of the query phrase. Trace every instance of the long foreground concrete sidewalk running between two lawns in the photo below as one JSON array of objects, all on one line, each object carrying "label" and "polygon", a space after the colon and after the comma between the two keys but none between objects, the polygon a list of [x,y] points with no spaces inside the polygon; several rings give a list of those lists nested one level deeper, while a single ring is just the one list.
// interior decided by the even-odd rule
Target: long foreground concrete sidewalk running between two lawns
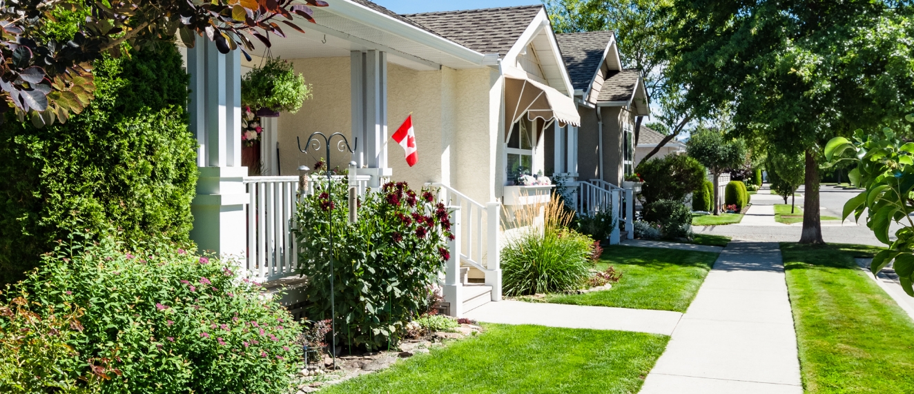
[{"label": "long foreground concrete sidewalk running between two lawns", "polygon": [[641,390],[671,392],[802,394],[777,243],[721,252]]}]

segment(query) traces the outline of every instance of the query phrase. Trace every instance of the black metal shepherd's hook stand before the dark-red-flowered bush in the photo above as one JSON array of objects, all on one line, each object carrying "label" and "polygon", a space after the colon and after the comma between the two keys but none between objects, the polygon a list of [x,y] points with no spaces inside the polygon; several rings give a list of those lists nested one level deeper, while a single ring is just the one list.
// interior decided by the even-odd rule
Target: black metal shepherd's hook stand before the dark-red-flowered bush
[{"label": "black metal shepherd's hook stand before the dark-red-flowered bush", "polygon": [[[325,154],[324,158],[327,160],[327,164],[325,165],[325,168],[324,168],[324,174],[326,174],[326,176],[327,176],[327,187],[330,187],[331,183],[333,182],[333,173],[330,170],[330,163],[331,163],[330,147],[331,147],[331,142],[333,141],[334,137],[336,137],[336,136],[339,136],[339,138],[340,138],[340,140],[336,142],[336,150],[338,152],[341,152],[344,154],[345,153],[353,154],[353,153],[355,153],[356,149],[358,149],[358,138],[356,137],[356,140],[355,140],[355,142],[356,142],[355,148],[352,148],[349,146],[349,140],[347,140],[345,138],[345,135],[343,135],[342,133],[333,133],[333,134],[330,134],[330,136],[326,136],[324,133],[321,133],[321,132],[312,133],[311,136],[308,137],[307,143],[305,144],[305,149],[302,149],[302,140],[299,139],[298,137],[295,138],[295,140],[298,142],[298,150],[300,152],[302,152],[303,154],[308,153],[309,147],[314,147],[314,151],[320,150],[321,143],[322,143],[321,140],[323,140],[324,154]],[[318,138],[320,138],[320,139],[318,139]],[[350,165],[349,165],[350,171],[353,168],[355,168],[355,165],[356,165],[355,162],[350,162]],[[303,167],[303,168],[305,170],[307,170],[307,167]],[[300,169],[302,169],[302,168],[300,167]],[[349,176],[352,177],[352,176],[355,176],[355,174],[350,173]],[[349,199],[349,204],[348,204],[349,215],[348,216],[349,216],[350,222],[356,221],[356,218],[357,218],[355,215],[356,208],[357,208],[357,204],[355,201],[356,193],[354,193],[354,192],[355,192],[355,189],[350,186],[349,191],[348,191],[348,197],[349,197],[348,198]],[[332,201],[333,197],[330,197],[330,198]],[[331,357],[333,357],[334,367],[335,367],[336,366],[336,309],[335,309],[335,299],[334,299],[334,217],[333,217],[333,208],[327,209],[327,222],[328,222],[328,228],[329,228],[329,232],[330,232],[330,332],[331,332],[331,336],[332,336],[332,340],[330,343],[330,351],[331,351],[330,354],[331,354]]]}]

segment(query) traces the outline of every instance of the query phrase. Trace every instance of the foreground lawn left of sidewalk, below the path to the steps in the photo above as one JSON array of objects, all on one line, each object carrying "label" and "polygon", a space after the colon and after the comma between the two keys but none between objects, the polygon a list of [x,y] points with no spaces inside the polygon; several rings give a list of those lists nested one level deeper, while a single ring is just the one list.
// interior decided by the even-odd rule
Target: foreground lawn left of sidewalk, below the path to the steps
[{"label": "foreground lawn left of sidewalk, below the path to the steps", "polygon": [[485,325],[486,332],[322,393],[635,393],[669,336]]}]

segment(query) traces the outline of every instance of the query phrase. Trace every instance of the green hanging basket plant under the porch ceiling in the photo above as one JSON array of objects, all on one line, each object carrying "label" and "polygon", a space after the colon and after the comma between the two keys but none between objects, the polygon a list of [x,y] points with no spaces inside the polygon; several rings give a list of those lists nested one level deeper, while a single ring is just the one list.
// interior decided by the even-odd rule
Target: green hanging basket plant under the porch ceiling
[{"label": "green hanging basket plant under the porch ceiling", "polygon": [[260,116],[298,112],[310,98],[311,86],[304,83],[302,74],[295,74],[292,63],[279,58],[267,59],[241,79],[241,105],[256,109]]}]

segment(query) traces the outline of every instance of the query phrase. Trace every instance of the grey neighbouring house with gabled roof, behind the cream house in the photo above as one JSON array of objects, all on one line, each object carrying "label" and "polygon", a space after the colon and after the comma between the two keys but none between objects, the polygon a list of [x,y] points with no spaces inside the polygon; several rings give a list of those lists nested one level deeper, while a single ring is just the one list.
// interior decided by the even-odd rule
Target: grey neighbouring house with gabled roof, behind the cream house
[{"label": "grey neighbouring house with gabled roof, behind the cream house", "polygon": [[547,148],[554,171],[579,181],[621,186],[622,178],[634,170],[635,124],[651,113],[642,73],[623,69],[611,31],[557,38],[574,86],[580,126],[557,128],[551,139],[547,136],[554,141]]}]

